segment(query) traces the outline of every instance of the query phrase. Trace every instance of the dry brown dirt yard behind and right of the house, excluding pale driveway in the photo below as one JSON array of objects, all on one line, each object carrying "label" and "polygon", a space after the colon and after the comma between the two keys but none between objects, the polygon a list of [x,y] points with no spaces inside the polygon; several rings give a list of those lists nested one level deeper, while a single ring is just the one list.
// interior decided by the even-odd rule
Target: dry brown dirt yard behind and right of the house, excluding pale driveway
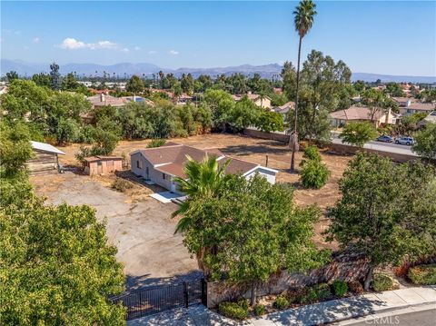
[{"label": "dry brown dirt yard behind and right of the house, excluding pale driveway", "polygon": [[[172,139],[173,142],[189,144],[198,148],[218,148],[228,156],[240,157],[243,160],[265,164],[266,155],[268,155],[268,166],[280,171],[277,176],[277,182],[292,183],[295,187],[295,202],[299,205],[308,205],[317,203],[322,210],[332,206],[339,198],[338,180],[351,160],[352,156],[342,156],[332,153],[322,153],[322,161],[327,164],[332,172],[329,183],[320,190],[307,190],[300,187],[298,174],[289,173],[291,154],[286,144],[262,140],[247,136],[213,133],[198,135],[189,138]],[[115,150],[115,154],[124,154],[129,158],[129,153],[137,149],[144,148],[149,140],[142,141],[123,141],[120,142]],[[61,162],[65,164],[77,164],[74,159],[74,153],[78,151],[78,145],[70,145],[61,148],[66,155],[61,157]],[[296,166],[302,160],[302,153],[296,154]],[[315,242],[322,247],[332,247],[331,243],[323,242],[320,233],[325,230],[327,221],[322,219],[316,225],[317,236]]]}]

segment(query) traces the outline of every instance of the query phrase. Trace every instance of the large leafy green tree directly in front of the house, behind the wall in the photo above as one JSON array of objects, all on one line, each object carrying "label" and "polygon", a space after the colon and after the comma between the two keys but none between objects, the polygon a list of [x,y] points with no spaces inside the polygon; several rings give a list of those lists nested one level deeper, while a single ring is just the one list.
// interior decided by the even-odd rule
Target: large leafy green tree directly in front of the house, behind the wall
[{"label": "large leafy green tree directly in front of the house, behind the wall", "polygon": [[[200,180],[209,178],[205,174]],[[249,284],[253,305],[256,288],[274,272],[283,267],[305,271],[327,261],[327,252],[317,251],[311,240],[320,212],[315,207],[296,208],[292,188],[272,185],[260,175],[248,181],[228,176],[218,184],[207,195],[194,191],[183,210],[183,222],[188,221],[183,242],[212,280],[225,277],[228,282]],[[202,187],[199,193],[203,189],[210,188]]]}]

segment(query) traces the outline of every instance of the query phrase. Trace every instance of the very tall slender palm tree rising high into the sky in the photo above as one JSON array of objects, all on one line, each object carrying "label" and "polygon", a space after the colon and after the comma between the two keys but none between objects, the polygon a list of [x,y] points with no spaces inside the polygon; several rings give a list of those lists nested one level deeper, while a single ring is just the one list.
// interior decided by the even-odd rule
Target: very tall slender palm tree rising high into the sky
[{"label": "very tall slender palm tree rising high into the sky", "polygon": [[295,152],[298,151],[298,131],[297,131],[297,118],[298,118],[298,91],[300,83],[300,57],[302,54],[302,38],[309,33],[309,30],[313,25],[313,17],[316,15],[315,11],[316,5],[312,0],[302,0],[300,4],[295,8],[293,12],[293,24],[295,25],[295,30],[300,36],[298,43],[298,63],[297,63],[297,87],[295,94],[295,117],[293,132],[291,133],[289,144],[292,147],[291,155],[291,171],[295,170]]}]

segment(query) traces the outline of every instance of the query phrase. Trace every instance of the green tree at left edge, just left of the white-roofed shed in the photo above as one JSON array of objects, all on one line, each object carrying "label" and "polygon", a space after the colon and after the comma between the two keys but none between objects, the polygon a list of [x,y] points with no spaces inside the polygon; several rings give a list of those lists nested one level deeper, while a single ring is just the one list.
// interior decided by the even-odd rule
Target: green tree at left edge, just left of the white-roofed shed
[{"label": "green tree at left edge, just left of the white-roofed shed", "polygon": [[[23,122],[0,122],[0,176],[13,176],[23,170],[34,151],[31,132]],[[0,178],[1,179],[1,178]],[[2,193],[3,195],[3,193]]]}]

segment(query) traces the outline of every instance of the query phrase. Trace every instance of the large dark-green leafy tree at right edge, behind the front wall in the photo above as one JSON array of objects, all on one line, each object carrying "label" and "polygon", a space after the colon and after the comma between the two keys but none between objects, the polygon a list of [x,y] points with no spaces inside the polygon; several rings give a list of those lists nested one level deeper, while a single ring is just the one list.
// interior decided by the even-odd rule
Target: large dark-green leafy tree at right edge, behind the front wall
[{"label": "large dark-green leafy tree at right edge, behind the front wall", "polygon": [[364,252],[376,267],[436,250],[436,175],[421,163],[394,164],[357,153],[340,181],[342,199],[330,212],[328,240]]}]

